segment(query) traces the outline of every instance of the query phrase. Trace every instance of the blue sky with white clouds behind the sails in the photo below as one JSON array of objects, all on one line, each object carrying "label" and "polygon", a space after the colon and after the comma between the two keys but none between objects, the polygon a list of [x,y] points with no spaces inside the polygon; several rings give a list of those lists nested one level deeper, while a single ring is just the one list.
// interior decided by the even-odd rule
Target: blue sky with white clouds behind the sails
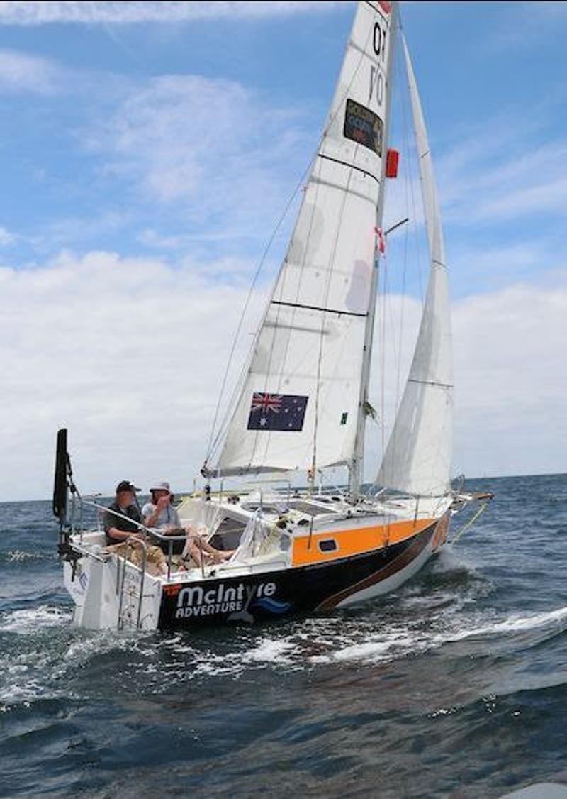
[{"label": "blue sky with white clouds behind the sails", "polygon": [[[125,477],[192,487],[253,276],[273,235],[229,383],[285,250],[353,13],[0,2],[0,501],[50,496],[62,426],[84,493]],[[450,264],[454,475],[565,472],[567,3],[407,2],[402,25]],[[392,237],[383,301],[404,332],[383,356],[384,403],[371,389],[389,419],[426,280],[402,91],[386,218],[410,192],[417,269],[396,268],[409,234]],[[368,435],[371,479],[383,434]]]}]

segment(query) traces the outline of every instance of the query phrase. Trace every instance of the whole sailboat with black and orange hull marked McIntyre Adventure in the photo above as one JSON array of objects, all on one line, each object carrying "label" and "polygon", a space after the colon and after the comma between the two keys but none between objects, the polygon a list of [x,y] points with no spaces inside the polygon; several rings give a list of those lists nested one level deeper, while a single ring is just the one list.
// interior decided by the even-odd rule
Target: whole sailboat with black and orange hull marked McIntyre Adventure
[{"label": "whole sailboat with black and orange hull marked McIntyre Adventure", "polygon": [[[395,2],[360,2],[295,228],[248,364],[209,452],[203,491],[178,508],[221,563],[149,574],[83,530],[66,431],[58,444],[54,510],[65,585],[81,626],[184,629],[330,612],[401,586],[446,543],[472,495],[451,488],[453,374],[450,304],[433,161],[410,54],[406,62],[430,276],[406,387],[375,490],[363,491],[376,294],[384,249]],[[378,466],[378,464],[376,464]],[[318,491],[317,475],[346,467],[348,487]],[[57,471],[58,470],[58,471]],[[293,487],[296,475],[307,487]],[[268,480],[266,479],[268,477]],[[237,490],[230,479],[252,479]],[[217,487],[212,480],[219,480]],[[285,490],[276,483],[285,481]],[[285,483],[283,483],[285,484]],[[272,486],[272,487],[271,487]]]}]

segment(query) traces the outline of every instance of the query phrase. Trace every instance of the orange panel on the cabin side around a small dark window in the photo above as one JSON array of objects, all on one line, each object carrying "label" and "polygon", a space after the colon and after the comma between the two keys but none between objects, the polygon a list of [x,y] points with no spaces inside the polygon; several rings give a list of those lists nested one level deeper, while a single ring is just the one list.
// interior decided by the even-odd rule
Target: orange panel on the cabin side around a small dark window
[{"label": "orange panel on the cabin side around a small dark window", "polygon": [[[354,527],[350,530],[333,530],[313,533],[311,546],[309,535],[293,540],[292,563],[306,566],[309,563],[326,563],[351,555],[360,555],[382,549],[418,535],[434,519],[419,519],[416,522],[395,522],[375,527]],[[334,542],[335,548],[329,549]]]}]

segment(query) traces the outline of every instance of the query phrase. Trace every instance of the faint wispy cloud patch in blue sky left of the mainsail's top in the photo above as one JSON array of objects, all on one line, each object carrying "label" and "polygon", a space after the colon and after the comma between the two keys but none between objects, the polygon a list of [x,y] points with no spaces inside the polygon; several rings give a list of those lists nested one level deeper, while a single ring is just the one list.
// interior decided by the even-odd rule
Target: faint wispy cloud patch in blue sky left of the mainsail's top
[{"label": "faint wispy cloud patch in blue sky left of the mainsail's top", "polygon": [[298,117],[235,81],[169,75],[130,93],[85,144],[102,153],[106,173],[168,205],[185,233],[198,226],[201,237],[243,229],[265,237],[283,208],[286,175],[290,191],[315,146],[303,141]]}]

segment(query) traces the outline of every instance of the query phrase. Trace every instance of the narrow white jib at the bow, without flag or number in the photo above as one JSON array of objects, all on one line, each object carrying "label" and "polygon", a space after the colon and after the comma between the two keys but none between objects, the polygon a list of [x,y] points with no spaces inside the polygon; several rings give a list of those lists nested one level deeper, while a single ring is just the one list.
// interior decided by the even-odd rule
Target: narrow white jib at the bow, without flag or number
[{"label": "narrow white jib at the bow, without flag or number", "polygon": [[450,488],[453,364],[449,287],[433,161],[410,54],[406,42],[403,44],[431,268],[414,359],[376,482],[410,494],[436,496]]}]

